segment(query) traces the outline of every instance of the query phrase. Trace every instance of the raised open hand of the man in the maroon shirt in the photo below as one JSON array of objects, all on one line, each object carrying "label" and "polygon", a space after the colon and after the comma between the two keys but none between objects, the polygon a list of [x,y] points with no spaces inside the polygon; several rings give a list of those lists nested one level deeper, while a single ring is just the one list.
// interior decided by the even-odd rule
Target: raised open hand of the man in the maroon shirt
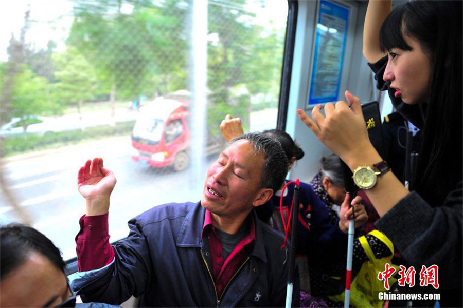
[{"label": "raised open hand of the man in the maroon shirt", "polygon": [[116,185],[116,177],[111,170],[103,167],[102,158],[87,160],[79,169],[77,187],[86,201],[86,215],[108,213],[110,196]]}]

